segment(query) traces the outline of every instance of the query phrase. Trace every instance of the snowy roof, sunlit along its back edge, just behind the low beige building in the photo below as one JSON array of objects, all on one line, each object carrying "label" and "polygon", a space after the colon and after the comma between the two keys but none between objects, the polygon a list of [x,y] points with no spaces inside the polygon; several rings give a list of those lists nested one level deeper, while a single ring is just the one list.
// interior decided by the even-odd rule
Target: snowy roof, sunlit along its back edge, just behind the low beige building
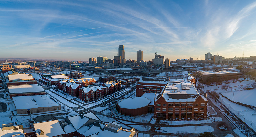
[{"label": "snowy roof, sunlit along its back edge, just behind the low beige building", "polygon": [[40,84],[29,85],[10,85],[8,86],[9,93],[31,93],[31,92],[45,92],[44,88]]}]

